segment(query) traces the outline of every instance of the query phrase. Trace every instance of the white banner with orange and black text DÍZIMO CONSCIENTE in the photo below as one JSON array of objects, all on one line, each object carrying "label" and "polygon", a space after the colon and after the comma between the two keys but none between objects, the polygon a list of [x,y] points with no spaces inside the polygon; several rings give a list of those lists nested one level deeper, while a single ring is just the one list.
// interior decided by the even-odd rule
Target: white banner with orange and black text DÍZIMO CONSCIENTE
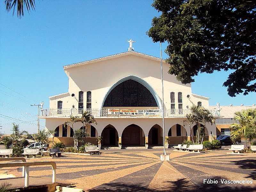
[{"label": "white banner with orange and black text D\u00cdZIMO CONSCIENTE", "polygon": [[128,116],[158,116],[159,109],[133,110],[133,109],[108,109],[108,115],[128,115]]}]

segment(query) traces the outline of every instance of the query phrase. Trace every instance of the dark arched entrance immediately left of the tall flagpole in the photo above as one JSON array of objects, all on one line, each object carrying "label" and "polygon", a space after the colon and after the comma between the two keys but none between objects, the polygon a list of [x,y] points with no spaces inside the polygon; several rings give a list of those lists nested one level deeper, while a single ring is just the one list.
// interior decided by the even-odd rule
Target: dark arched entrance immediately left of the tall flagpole
[{"label": "dark arched entrance immediately left of the tall flagpole", "polygon": [[148,132],[149,145],[163,145],[163,130],[158,124],[155,124]]}]

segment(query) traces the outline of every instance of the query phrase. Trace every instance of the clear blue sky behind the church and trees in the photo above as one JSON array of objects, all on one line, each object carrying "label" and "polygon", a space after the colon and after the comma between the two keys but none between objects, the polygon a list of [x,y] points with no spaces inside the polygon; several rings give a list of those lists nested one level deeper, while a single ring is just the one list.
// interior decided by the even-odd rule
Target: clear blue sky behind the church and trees
[{"label": "clear blue sky behind the church and trees", "polygon": [[[41,1],[36,11],[18,19],[0,3],[0,125],[10,133],[12,122],[21,130],[36,132],[36,107],[30,104],[67,92],[62,66],[127,51],[159,57],[159,44],[146,35],[158,16],[152,1]],[[163,48],[166,47],[164,44]],[[164,58],[167,56],[164,54]],[[200,74],[192,92],[210,97],[210,105],[252,105],[256,93],[231,98],[222,87],[230,72]],[[3,116],[4,115],[4,116]],[[11,117],[11,118],[10,118]],[[15,119],[12,119],[15,118]],[[17,120],[18,119],[18,120]],[[44,126],[44,121],[40,120]]]}]

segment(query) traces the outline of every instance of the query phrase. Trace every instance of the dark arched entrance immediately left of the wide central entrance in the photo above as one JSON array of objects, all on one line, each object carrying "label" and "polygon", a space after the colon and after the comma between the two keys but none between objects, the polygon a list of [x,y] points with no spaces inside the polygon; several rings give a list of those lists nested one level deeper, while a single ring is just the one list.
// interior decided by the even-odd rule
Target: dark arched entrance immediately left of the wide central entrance
[{"label": "dark arched entrance immediately left of the wide central entrance", "polygon": [[107,125],[101,133],[101,145],[117,146],[118,145],[118,133],[113,125]]}]

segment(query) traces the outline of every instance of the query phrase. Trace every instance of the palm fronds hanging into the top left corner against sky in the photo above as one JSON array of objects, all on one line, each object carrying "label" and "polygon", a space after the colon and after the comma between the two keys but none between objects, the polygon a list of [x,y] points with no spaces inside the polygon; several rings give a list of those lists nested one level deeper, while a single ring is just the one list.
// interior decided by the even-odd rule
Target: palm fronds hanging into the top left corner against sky
[{"label": "palm fronds hanging into the top left corner against sky", "polygon": [[17,16],[19,18],[24,16],[24,9],[27,9],[28,12],[30,12],[30,10],[35,10],[35,0],[5,0],[4,3],[7,12],[10,12],[13,9],[12,15],[14,15],[17,7]]}]

